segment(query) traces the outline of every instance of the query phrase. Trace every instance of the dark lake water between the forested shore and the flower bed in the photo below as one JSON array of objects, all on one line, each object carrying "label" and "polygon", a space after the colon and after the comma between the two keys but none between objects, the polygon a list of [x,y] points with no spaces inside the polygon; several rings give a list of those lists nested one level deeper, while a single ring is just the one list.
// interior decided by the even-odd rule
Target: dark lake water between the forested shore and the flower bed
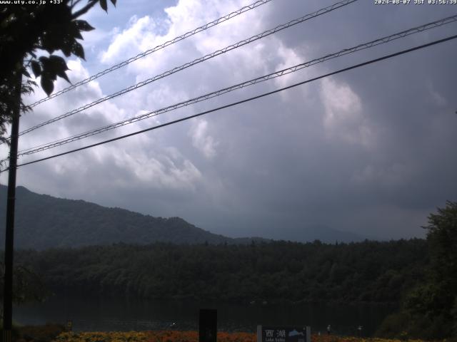
[{"label": "dark lake water between the forested shore and the flower bed", "polygon": [[371,336],[393,306],[336,304],[217,304],[195,301],[138,301],[53,296],[44,303],[17,306],[14,321],[22,324],[73,322],[74,331],[141,331],[170,328],[198,330],[199,309],[218,310],[219,331],[255,332],[258,324],[311,326],[313,333]]}]

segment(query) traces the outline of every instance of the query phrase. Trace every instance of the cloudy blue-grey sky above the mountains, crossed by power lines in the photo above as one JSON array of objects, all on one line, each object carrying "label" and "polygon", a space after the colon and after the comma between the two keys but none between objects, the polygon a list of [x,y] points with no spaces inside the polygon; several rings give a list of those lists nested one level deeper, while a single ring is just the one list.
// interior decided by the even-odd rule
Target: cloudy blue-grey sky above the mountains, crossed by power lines
[{"label": "cloudy blue-grey sky above the mountains, crossed by power lines", "polygon": [[[80,81],[253,0],[119,0],[84,19]],[[37,105],[21,130],[336,1],[272,0]],[[173,105],[457,14],[457,5],[359,0],[21,136],[19,150]],[[19,162],[200,113],[456,34],[457,24],[318,63],[281,78],[73,142]],[[306,239],[331,227],[373,239],[424,237],[428,214],[457,200],[457,41],[89,150],[20,167],[17,184],[229,237]],[[59,80],[56,90],[68,83]],[[26,98],[44,98],[37,89]],[[0,156],[6,157],[5,146]],[[0,175],[6,184],[6,172]]]}]

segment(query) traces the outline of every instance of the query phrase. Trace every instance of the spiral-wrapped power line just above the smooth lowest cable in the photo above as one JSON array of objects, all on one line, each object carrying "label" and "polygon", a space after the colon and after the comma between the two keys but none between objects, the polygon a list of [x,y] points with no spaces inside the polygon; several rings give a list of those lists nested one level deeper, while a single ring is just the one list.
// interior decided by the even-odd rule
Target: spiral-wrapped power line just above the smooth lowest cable
[{"label": "spiral-wrapped power line just above the smooth lowest cable", "polygon": [[349,53],[354,53],[356,51],[361,51],[361,50],[364,50],[366,48],[371,48],[373,46],[378,46],[378,45],[383,44],[383,43],[388,43],[389,41],[393,41],[393,40],[396,40],[398,38],[403,38],[403,37],[409,36],[409,35],[411,35],[413,33],[423,32],[423,31],[426,31],[426,30],[431,29],[431,28],[436,28],[436,27],[439,27],[439,26],[443,26],[445,24],[450,24],[450,23],[452,23],[454,21],[457,21],[457,15],[449,16],[449,17],[446,17],[446,18],[443,18],[443,19],[439,19],[437,21],[433,21],[431,23],[424,24],[424,25],[421,25],[421,26],[416,26],[416,27],[413,27],[413,28],[409,28],[406,31],[401,31],[399,33],[394,33],[394,34],[391,34],[390,36],[384,36],[384,37],[378,38],[378,39],[376,39],[374,41],[369,41],[368,43],[362,43],[362,44],[359,44],[357,46],[353,46],[352,48],[345,48],[345,49],[343,49],[341,51],[338,51],[336,53],[331,53],[331,54],[328,54],[328,55],[323,56],[321,58],[313,59],[312,61],[308,61],[308,62],[305,62],[305,63],[300,63],[300,64],[297,64],[296,66],[292,66],[292,67],[289,67],[289,68],[284,68],[284,69],[282,69],[280,71],[276,71],[274,73],[269,73],[268,75],[261,76],[261,77],[258,77],[258,78],[253,78],[253,79],[251,79],[249,81],[245,81],[243,83],[238,83],[238,84],[236,84],[234,86],[230,86],[230,87],[227,87],[227,88],[216,90],[214,92],[207,93],[205,95],[200,95],[199,97],[191,98],[190,100],[186,100],[186,101],[183,101],[183,102],[180,102],[180,103],[175,103],[174,105],[169,105],[169,106],[167,106],[165,108],[161,108],[159,110],[154,110],[154,111],[151,111],[149,113],[144,113],[144,114],[135,116],[133,118],[129,118],[129,119],[126,119],[126,120],[121,120],[118,123],[112,123],[110,125],[106,125],[106,126],[101,127],[101,128],[96,128],[95,130],[89,130],[89,131],[87,131],[85,133],[80,133],[78,135],[73,135],[73,136],[68,137],[68,138],[54,140],[52,142],[47,142],[47,143],[42,144],[42,145],[30,147],[30,148],[27,148],[27,149],[19,151],[19,156],[21,156],[21,155],[31,155],[31,154],[34,154],[36,152],[49,150],[50,148],[53,148],[53,147],[66,145],[69,142],[74,142],[74,141],[77,141],[77,140],[88,138],[88,137],[90,137],[92,135],[96,135],[96,134],[100,134],[100,133],[106,132],[107,130],[113,130],[115,128],[119,128],[119,127],[124,126],[124,125],[129,125],[131,123],[135,123],[135,122],[140,121],[140,120],[145,120],[147,118],[151,118],[151,117],[154,117],[156,115],[161,115],[161,114],[169,112],[171,110],[176,110],[178,108],[182,108],[182,107],[185,107],[187,105],[192,105],[194,103],[199,103],[199,102],[204,101],[204,100],[209,100],[210,98],[214,98],[214,97],[222,95],[224,93],[229,93],[229,92],[231,92],[233,90],[245,88],[247,86],[253,86],[254,84],[261,83],[263,81],[268,81],[268,80],[271,80],[272,78],[281,77],[283,75],[287,75],[288,73],[294,73],[294,72],[296,72],[298,70],[301,70],[302,68],[307,68],[307,67],[313,66],[313,65],[315,65],[317,63],[322,63],[323,61],[328,61],[330,59],[337,58],[339,56],[344,56],[344,55],[347,55]]}]

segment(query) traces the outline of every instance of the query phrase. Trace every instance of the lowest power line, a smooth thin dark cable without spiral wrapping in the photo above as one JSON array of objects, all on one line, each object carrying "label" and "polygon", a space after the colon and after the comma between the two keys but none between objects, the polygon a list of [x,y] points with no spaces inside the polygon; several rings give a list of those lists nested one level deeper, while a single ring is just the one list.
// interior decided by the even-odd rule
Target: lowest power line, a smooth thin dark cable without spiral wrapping
[{"label": "lowest power line, a smooth thin dark cable without spiral wrapping", "polygon": [[[338,71],[333,71],[332,73],[326,73],[325,75],[322,75],[322,76],[318,76],[318,77],[315,77],[315,78],[311,78],[309,80],[306,80],[306,81],[302,81],[302,82],[299,82],[299,83],[294,83],[292,84],[291,86],[287,86],[287,87],[283,87],[283,88],[279,88],[279,89],[276,89],[276,90],[273,90],[273,91],[269,91],[268,93],[263,93],[261,95],[256,95],[256,96],[253,96],[251,98],[246,98],[244,100],[240,100],[240,101],[237,101],[237,102],[234,102],[234,103],[229,103],[228,105],[223,105],[221,107],[218,107],[218,108],[214,108],[214,109],[211,109],[211,110],[206,110],[204,112],[201,112],[201,113],[198,113],[198,114],[194,114],[194,115],[190,115],[190,116],[186,116],[185,118],[180,118],[180,119],[177,119],[177,120],[173,120],[173,121],[170,121],[168,123],[163,123],[161,125],[156,125],[154,127],[151,127],[151,128],[146,128],[145,130],[139,130],[137,132],[134,132],[134,133],[129,133],[129,134],[126,134],[126,135],[121,135],[120,137],[117,137],[117,138],[113,138],[113,139],[109,139],[109,140],[104,140],[104,141],[101,141],[101,142],[97,142],[95,144],[92,144],[92,145],[87,145],[87,146],[84,146],[84,147],[79,147],[79,148],[76,148],[74,150],[69,150],[69,151],[66,151],[66,152],[62,152],[62,153],[59,153],[57,155],[51,155],[49,157],[44,157],[44,158],[41,158],[41,159],[38,159],[38,160],[32,160],[31,162],[24,162],[22,164],[19,164],[17,165],[17,167],[20,167],[20,166],[25,166],[25,165],[30,165],[30,164],[34,164],[36,162],[42,162],[44,160],[49,160],[49,159],[53,159],[53,158],[56,158],[56,157],[61,157],[62,155],[68,155],[70,153],[73,153],[73,152],[78,152],[78,151],[81,151],[81,150],[86,150],[88,148],[91,148],[91,147],[96,147],[96,146],[99,146],[99,145],[104,145],[108,142],[113,142],[113,141],[116,141],[116,140],[121,140],[121,139],[124,139],[124,138],[129,138],[133,135],[138,135],[138,134],[141,134],[141,133],[145,133],[145,132],[148,132],[150,130],[156,130],[158,128],[163,128],[163,127],[166,127],[168,125],[173,125],[175,123],[180,123],[181,121],[185,121],[185,120],[189,120],[191,118],[197,118],[201,115],[205,115],[205,114],[209,114],[209,113],[212,113],[212,112],[216,112],[217,110],[221,110],[221,109],[225,109],[225,108],[229,108],[229,107],[233,107],[234,105],[239,105],[241,103],[246,103],[248,101],[251,101],[251,100],[256,100],[258,98],[263,98],[265,96],[268,96],[268,95],[272,95],[272,94],[275,94],[275,93],[279,93],[280,91],[283,91],[283,90],[287,90],[287,89],[291,89],[291,88],[295,88],[297,86],[301,86],[303,84],[306,84],[306,83],[311,83],[313,81],[317,81],[321,78],[326,78],[328,76],[333,76],[333,75],[336,75],[338,73],[343,73],[345,71],[350,71],[352,69],[355,69],[355,68],[360,68],[361,66],[367,66],[368,64],[372,64],[372,63],[376,63],[376,62],[379,62],[379,61],[383,61],[385,59],[388,59],[388,58],[393,58],[393,57],[396,57],[396,56],[400,56],[404,53],[409,53],[411,51],[416,51],[416,50],[419,50],[421,48],[426,48],[428,46],[433,46],[433,45],[436,45],[438,43],[443,43],[445,41],[451,41],[452,39],[455,39],[457,38],[457,35],[454,35],[454,36],[449,36],[447,38],[443,38],[443,39],[439,39],[438,41],[432,41],[431,43],[426,43],[426,44],[423,44],[421,46],[416,46],[414,48],[408,48],[406,50],[403,50],[403,51],[399,51],[399,52],[396,52],[396,53],[391,53],[390,55],[386,55],[386,56],[383,56],[383,57],[379,57],[379,58],[375,58],[375,59],[371,59],[370,61],[366,61],[366,62],[363,62],[363,63],[359,63],[359,64],[356,64],[354,66],[349,66],[348,68],[343,68],[343,69],[340,69]],[[5,172],[6,170],[9,170],[9,168],[5,169],[5,170],[2,170],[0,171],[1,172]]]}]

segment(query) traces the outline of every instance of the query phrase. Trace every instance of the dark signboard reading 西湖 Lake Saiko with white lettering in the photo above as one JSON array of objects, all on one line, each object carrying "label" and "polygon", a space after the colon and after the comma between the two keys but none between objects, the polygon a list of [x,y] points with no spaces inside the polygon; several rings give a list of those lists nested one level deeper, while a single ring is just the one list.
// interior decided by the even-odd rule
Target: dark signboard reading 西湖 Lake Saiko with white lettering
[{"label": "dark signboard reading \u897f\u6e56 Lake Saiko with white lettering", "polygon": [[257,342],[311,342],[311,327],[257,326]]}]

